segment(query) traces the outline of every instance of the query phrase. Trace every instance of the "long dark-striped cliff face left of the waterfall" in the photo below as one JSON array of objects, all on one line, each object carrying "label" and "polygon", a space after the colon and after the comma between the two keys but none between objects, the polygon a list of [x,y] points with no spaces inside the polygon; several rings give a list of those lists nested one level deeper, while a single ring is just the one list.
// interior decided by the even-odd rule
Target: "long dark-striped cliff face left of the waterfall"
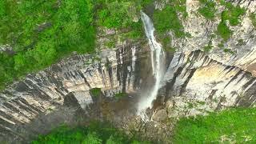
[{"label": "long dark-striped cliff face left of the waterfall", "polygon": [[146,55],[138,43],[125,43],[116,51],[103,50],[99,55],[75,54],[38,74],[29,74],[0,94],[1,137],[18,137],[16,133],[23,130],[17,126],[58,110],[70,95],[73,100],[66,98],[67,101],[77,102],[86,109],[94,102],[90,89],[101,88],[105,97],[134,93],[140,87],[140,67],[143,67],[140,65],[147,62]]}]

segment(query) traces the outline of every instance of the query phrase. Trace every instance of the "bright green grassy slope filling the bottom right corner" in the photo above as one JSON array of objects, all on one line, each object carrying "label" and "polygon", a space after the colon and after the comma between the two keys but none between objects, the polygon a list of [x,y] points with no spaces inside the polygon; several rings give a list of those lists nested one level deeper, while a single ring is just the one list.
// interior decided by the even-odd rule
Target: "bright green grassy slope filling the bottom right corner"
[{"label": "bright green grassy slope filling the bottom right corner", "polygon": [[256,142],[256,109],[236,108],[207,116],[182,118],[174,129],[174,143]]}]

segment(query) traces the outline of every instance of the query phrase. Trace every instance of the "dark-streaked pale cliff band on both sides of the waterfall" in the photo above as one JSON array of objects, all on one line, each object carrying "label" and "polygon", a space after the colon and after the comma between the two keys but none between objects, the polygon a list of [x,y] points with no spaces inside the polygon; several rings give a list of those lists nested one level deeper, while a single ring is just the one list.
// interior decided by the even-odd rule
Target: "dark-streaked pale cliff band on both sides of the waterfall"
[{"label": "dark-streaked pale cliff band on both sides of the waterfall", "polygon": [[[120,92],[139,97],[153,78],[149,55],[148,47],[127,43],[118,50],[103,50],[101,61],[96,56],[75,54],[47,70],[28,75],[1,94],[1,137],[20,140],[33,135],[27,126],[36,127],[38,120],[34,119],[38,118],[48,117],[46,122],[53,125],[71,121],[66,119],[74,117],[75,110],[65,106],[73,103],[72,106],[90,110],[90,105],[97,102],[90,93],[92,88],[101,88],[106,98]],[[230,106],[254,106],[255,82],[250,73],[226,66],[200,50],[167,54],[158,98],[173,117]],[[56,111],[58,117],[65,116],[54,121]]]}]

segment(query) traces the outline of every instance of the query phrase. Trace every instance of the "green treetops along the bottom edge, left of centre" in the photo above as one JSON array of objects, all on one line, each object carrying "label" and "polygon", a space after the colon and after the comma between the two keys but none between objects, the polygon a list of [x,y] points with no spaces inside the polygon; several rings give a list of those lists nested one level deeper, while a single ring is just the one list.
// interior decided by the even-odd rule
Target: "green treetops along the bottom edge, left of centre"
[{"label": "green treetops along the bottom edge, left of centre", "polygon": [[40,135],[32,144],[146,144],[150,142],[138,141],[135,138],[128,137],[124,132],[118,130],[110,123],[91,122],[90,126],[79,126],[70,128],[69,126],[60,126],[47,135]]}]

